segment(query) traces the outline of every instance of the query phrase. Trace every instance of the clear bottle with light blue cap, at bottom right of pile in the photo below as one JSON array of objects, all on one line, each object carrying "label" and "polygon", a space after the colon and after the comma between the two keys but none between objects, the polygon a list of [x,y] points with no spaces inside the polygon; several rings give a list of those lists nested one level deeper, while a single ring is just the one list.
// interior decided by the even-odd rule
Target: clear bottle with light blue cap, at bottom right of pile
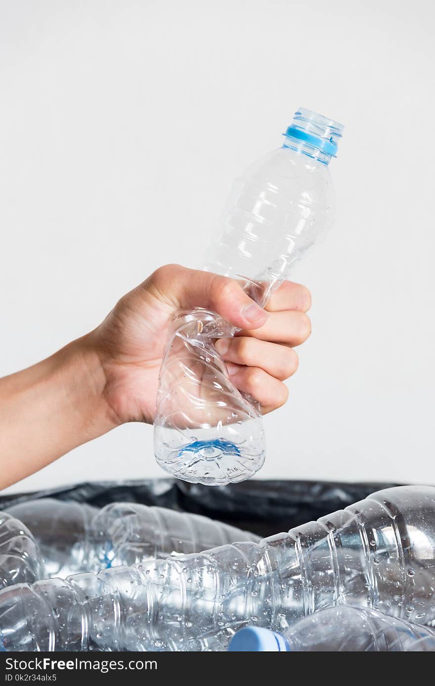
[{"label": "clear bottle with light blue cap, at bottom right of pile", "polygon": [[372,608],[349,605],[308,615],[283,634],[257,626],[237,631],[230,652],[408,652],[427,650],[435,630]]}]

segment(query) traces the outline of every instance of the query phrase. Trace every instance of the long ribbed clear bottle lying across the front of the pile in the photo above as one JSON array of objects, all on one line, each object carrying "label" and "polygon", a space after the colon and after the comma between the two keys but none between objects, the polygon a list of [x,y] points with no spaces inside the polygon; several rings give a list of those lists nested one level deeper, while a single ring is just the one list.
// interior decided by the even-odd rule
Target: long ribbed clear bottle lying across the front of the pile
[{"label": "long ribbed clear bottle lying across the front of the pile", "polygon": [[258,544],[3,589],[0,631],[7,650],[200,651],[333,604],[435,625],[434,486],[380,490]]}]

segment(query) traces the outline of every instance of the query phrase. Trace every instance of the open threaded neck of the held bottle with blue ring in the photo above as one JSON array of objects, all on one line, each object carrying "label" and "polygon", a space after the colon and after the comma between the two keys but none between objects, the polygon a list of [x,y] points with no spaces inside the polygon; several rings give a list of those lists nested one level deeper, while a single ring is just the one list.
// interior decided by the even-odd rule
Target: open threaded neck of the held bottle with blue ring
[{"label": "open threaded neck of the held bottle with blue ring", "polygon": [[338,121],[300,107],[284,135],[336,157],[343,129]]}]

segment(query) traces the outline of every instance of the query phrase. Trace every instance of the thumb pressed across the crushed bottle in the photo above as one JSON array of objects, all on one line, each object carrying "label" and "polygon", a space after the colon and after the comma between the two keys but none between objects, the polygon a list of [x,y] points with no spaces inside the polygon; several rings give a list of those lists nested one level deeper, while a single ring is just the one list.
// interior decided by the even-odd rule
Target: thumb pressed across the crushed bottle
[{"label": "thumb pressed across the crushed bottle", "polygon": [[145,286],[177,309],[204,307],[216,312],[237,329],[258,329],[268,312],[261,309],[235,279],[171,264],[159,268]]}]

